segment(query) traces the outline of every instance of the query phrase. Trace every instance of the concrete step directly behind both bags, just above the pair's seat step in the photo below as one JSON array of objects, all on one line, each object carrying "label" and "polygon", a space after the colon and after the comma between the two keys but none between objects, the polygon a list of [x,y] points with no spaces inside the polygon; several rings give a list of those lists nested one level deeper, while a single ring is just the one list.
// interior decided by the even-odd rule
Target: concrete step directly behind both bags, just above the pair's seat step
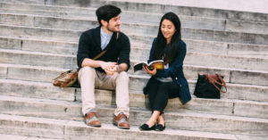
[{"label": "concrete step directly behind both bags, just above the pair's seat step", "polygon": [[[61,72],[66,71],[66,69],[18,64],[1,64],[0,71],[0,78],[4,79],[19,79],[51,83],[52,78],[55,78]],[[147,75],[130,75],[130,90],[142,91],[148,78],[149,76]],[[188,82],[190,84],[190,91],[193,93],[196,80],[188,80]],[[228,93],[222,95],[231,96],[230,98],[268,101],[267,89],[267,86],[231,83],[228,84]],[[256,93],[258,96],[255,96]]]}]

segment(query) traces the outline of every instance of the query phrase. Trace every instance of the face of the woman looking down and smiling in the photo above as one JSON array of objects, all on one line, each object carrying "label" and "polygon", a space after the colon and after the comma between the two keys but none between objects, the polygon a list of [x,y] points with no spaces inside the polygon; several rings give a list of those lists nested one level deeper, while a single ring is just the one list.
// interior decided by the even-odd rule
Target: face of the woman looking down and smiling
[{"label": "face of the woman looking down and smiling", "polygon": [[161,31],[162,31],[163,37],[165,37],[169,43],[176,29],[172,21],[163,20],[162,25],[161,25]]}]

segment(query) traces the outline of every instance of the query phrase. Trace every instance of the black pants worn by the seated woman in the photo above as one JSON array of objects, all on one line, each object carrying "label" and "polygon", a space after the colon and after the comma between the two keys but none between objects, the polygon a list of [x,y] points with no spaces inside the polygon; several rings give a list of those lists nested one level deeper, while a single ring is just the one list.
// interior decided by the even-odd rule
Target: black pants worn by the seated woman
[{"label": "black pants worn by the seated woman", "polygon": [[180,86],[174,82],[161,82],[155,78],[151,78],[147,85],[147,93],[152,112],[160,111],[163,114],[169,98],[180,96]]}]

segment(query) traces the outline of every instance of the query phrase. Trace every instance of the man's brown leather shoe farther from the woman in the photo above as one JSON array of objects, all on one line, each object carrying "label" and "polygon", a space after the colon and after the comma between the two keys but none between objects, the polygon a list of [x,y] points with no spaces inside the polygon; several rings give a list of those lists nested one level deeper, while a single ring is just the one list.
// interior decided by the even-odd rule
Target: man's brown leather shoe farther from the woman
[{"label": "man's brown leather shoe farther from the woman", "polygon": [[85,123],[91,127],[101,127],[101,122],[97,119],[96,111],[90,111],[85,116]]}]

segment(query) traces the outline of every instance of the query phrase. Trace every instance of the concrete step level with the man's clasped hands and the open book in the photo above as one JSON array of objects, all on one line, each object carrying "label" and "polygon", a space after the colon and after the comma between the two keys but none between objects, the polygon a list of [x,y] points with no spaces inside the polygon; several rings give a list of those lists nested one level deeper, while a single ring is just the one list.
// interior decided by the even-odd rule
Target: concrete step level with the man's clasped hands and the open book
[{"label": "concrete step level with the man's clasped hands and the open book", "polygon": [[[76,69],[76,58],[73,55],[69,54],[48,54],[48,53],[36,53],[36,52],[28,52],[28,51],[19,51],[19,50],[6,50],[0,49],[1,61],[10,64],[23,64],[32,65],[32,66],[40,66],[43,67],[54,67],[55,69]],[[194,57],[194,56],[193,56]],[[21,59],[23,58],[23,59]],[[131,62],[133,66],[135,61]],[[12,65],[11,65],[12,66]],[[24,67],[22,66],[22,67]],[[30,66],[28,66],[30,69]],[[38,68],[39,69],[39,68]],[[239,70],[239,69],[222,69],[215,67],[207,67],[207,66],[197,66],[197,65],[184,65],[186,78],[189,79],[197,79],[198,73],[222,73],[225,74],[226,82],[231,83],[243,83],[243,84],[255,84],[255,85],[263,85],[267,86],[267,81],[265,80],[267,77],[266,71],[260,70]],[[46,68],[45,68],[46,70]],[[2,72],[4,75],[4,71]],[[193,74],[195,73],[195,74]],[[130,74],[135,75],[145,75],[146,72],[138,71],[134,72],[132,67],[130,67]],[[250,77],[249,79],[244,79],[246,77]]]}]

